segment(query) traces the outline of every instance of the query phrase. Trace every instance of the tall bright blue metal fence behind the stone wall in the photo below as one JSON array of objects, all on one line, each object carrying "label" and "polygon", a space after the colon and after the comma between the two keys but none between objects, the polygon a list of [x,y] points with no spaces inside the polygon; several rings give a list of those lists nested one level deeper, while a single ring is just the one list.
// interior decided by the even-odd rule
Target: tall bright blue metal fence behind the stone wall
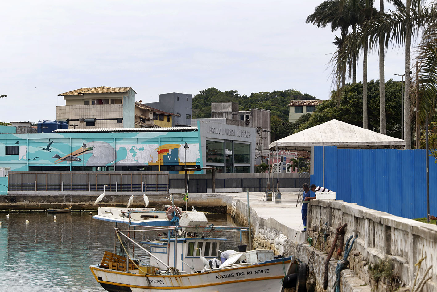
[{"label": "tall bright blue metal fence behind the stone wall", "polygon": [[[406,218],[427,215],[424,149],[325,148],[325,187],[337,200]],[[430,213],[437,214],[437,164],[430,165]],[[323,146],[314,147],[311,183],[323,185]]]}]

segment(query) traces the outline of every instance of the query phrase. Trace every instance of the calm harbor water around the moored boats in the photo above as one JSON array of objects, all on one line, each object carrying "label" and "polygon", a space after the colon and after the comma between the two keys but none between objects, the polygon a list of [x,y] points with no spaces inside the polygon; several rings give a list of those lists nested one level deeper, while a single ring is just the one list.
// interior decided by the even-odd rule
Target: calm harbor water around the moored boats
[{"label": "calm harbor water around the moored boats", "polygon": [[[114,250],[114,223],[88,213],[0,213],[0,291],[105,291],[89,266]],[[235,225],[229,215],[207,215],[217,226]],[[29,220],[26,224],[25,220]],[[222,235],[220,235],[222,236]],[[227,232],[220,250],[237,250],[239,232]],[[243,244],[247,236],[243,233]]]}]

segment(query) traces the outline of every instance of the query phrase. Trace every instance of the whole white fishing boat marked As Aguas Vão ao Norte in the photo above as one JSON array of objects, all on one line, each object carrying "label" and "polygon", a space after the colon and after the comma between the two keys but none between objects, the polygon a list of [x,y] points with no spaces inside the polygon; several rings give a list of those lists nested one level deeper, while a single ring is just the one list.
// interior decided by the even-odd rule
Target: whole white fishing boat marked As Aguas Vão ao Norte
[{"label": "whole white fishing boat marked As Aguas V\u00e3o ao Norte", "polygon": [[[305,264],[294,257],[275,257],[272,250],[236,252],[219,267],[209,264],[212,261],[208,259],[218,257],[220,242],[226,240],[218,237],[217,232],[225,229],[241,232],[247,227],[196,225],[190,219],[198,220],[201,215],[187,213],[180,222],[191,222],[190,225],[116,229],[119,249],[124,255],[106,251],[101,264],[90,266],[96,281],[110,292],[280,292],[283,282],[286,288],[305,285]],[[165,231],[166,237],[139,243],[129,236],[137,232],[165,234]],[[148,264],[139,250],[149,256]]]}]

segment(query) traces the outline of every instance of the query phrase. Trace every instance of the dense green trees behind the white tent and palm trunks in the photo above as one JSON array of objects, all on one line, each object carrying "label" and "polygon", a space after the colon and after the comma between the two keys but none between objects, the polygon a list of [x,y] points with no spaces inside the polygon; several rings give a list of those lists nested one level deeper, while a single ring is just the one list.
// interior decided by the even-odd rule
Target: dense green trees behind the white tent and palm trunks
[{"label": "dense green trees behind the white tent and palm trunks", "polygon": [[[369,81],[368,117],[369,130],[379,132],[379,81]],[[332,91],[331,99],[317,107],[306,123],[302,123],[298,131],[317,126],[329,120],[336,119],[345,123],[363,126],[363,85],[347,84],[341,90],[340,106],[337,107],[337,92]],[[388,80],[385,83],[385,107],[387,118],[387,135],[400,138],[401,133],[401,84]]]}]

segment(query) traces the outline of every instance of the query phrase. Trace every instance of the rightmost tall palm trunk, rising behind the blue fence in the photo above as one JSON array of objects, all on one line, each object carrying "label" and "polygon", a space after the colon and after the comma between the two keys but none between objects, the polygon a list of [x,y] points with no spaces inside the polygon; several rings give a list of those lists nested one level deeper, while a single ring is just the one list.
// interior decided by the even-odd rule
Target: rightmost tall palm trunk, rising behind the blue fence
[{"label": "rightmost tall palm trunk, rising behind the blue fence", "polygon": [[411,84],[411,20],[410,18],[411,0],[406,2],[406,28],[405,28],[405,97],[404,97],[404,140],[405,148],[411,149],[411,102],[409,98]]}]

